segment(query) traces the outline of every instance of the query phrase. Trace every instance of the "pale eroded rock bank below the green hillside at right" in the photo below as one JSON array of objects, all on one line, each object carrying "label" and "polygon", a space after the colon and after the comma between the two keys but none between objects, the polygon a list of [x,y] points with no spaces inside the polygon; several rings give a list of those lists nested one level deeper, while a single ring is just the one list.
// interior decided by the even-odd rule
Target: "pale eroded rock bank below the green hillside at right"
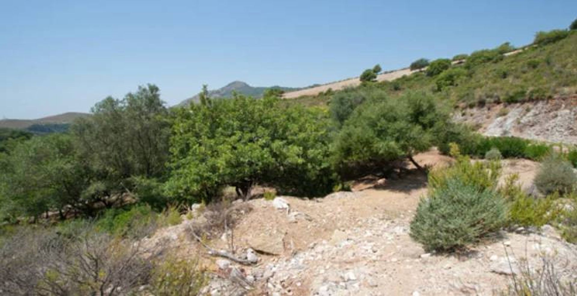
[{"label": "pale eroded rock bank below the green hillside at right", "polygon": [[[503,108],[508,112],[501,111]],[[506,114],[499,116],[499,111],[501,115]],[[475,107],[457,112],[454,119],[473,124],[488,136],[519,136],[577,144],[577,96]]]}]

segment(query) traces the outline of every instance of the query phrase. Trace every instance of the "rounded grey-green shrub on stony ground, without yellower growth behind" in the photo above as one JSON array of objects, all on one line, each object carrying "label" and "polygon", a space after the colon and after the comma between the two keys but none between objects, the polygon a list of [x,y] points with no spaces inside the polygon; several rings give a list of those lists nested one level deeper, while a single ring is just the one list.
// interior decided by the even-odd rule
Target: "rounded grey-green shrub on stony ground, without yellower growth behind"
[{"label": "rounded grey-green shrub on stony ground, without yellower growth behind", "polygon": [[506,219],[504,200],[496,192],[451,179],[419,202],[410,236],[426,250],[453,251],[499,230]]}]

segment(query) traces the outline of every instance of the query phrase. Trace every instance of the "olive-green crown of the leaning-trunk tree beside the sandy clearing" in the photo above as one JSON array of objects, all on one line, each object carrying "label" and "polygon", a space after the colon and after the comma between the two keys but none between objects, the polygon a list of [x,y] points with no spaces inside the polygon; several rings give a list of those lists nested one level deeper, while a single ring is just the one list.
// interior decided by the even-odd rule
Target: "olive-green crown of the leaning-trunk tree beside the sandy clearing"
[{"label": "olive-green crown of the leaning-trunk tree beside the sandy clearing", "polygon": [[423,93],[366,101],[336,135],[335,163],[346,168],[411,159],[433,145],[436,127],[448,120],[448,113]]}]

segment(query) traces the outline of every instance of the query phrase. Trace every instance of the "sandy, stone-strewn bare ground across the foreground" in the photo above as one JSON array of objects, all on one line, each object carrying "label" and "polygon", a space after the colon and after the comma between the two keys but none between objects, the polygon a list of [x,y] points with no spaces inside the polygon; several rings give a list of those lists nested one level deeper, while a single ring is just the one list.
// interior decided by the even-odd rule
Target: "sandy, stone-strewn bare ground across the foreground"
[{"label": "sandy, stone-strewn bare ground across the foreground", "polygon": [[[440,166],[450,158],[431,151],[421,164]],[[537,164],[505,161],[504,174],[520,173],[529,187]],[[540,232],[501,232],[467,252],[428,253],[411,240],[409,225],[426,177],[413,172],[397,180],[376,178],[362,191],[333,193],[322,199],[255,199],[234,232],[211,242],[254,265],[207,256],[186,235],[193,220],[162,229],[149,242],[171,243],[182,256],[203,256],[211,270],[204,292],[212,295],[492,295],[512,275],[539,268],[542,256],[556,263],[565,279],[577,277],[577,247],[553,227]]]}]

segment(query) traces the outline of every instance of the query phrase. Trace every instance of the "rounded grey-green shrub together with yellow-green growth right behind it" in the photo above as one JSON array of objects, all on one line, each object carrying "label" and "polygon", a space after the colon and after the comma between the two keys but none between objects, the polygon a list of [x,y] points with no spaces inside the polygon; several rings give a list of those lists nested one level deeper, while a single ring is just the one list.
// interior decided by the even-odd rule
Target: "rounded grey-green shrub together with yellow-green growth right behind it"
[{"label": "rounded grey-green shrub together with yellow-green growth right behind it", "polygon": [[427,250],[454,251],[501,229],[507,220],[504,199],[494,189],[499,164],[471,164],[460,157],[449,169],[429,175],[429,195],[411,221],[411,237]]}]

